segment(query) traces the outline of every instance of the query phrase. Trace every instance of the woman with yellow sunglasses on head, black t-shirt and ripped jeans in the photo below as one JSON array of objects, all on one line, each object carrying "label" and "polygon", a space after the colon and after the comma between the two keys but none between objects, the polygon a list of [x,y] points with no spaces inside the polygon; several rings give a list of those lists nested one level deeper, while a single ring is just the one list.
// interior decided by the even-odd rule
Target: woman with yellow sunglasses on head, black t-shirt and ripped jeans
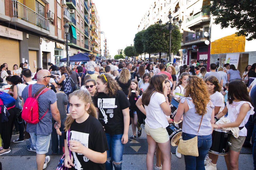
[{"label": "woman with yellow sunglasses on head, black t-shirt and ripped jeans", "polygon": [[130,102],[122,88],[108,74],[101,74],[96,81],[94,105],[97,118],[105,129],[109,150],[106,170],[122,169],[124,144],[128,141]]}]

